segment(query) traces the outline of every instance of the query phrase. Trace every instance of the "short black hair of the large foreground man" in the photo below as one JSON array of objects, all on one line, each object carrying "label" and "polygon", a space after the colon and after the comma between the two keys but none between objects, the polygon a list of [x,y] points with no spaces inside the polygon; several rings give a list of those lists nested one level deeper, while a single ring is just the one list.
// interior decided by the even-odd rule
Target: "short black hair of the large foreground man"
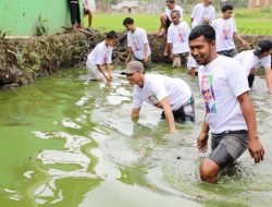
[{"label": "short black hair of the large foreground man", "polygon": [[189,40],[203,36],[209,42],[215,40],[215,31],[211,25],[198,25],[189,34]]}]

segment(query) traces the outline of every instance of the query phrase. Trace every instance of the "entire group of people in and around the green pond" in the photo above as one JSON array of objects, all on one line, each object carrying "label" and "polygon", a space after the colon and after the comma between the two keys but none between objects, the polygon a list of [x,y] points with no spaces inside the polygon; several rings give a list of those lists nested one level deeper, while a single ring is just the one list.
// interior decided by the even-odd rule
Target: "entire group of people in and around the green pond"
[{"label": "entire group of people in and around the green pond", "polygon": [[[70,8],[73,28],[76,29],[81,20],[78,13],[72,10],[78,10],[78,1],[71,0]],[[91,16],[86,8],[85,13]],[[255,162],[260,162],[264,156],[249,88],[256,71],[263,66],[267,85],[272,93],[272,42],[260,40],[255,49],[250,49],[237,32],[233,11],[231,4],[224,4],[221,8],[222,16],[215,19],[212,0],[203,0],[194,7],[190,22],[186,23],[183,8],[175,0],[166,0],[157,34],[166,36],[163,56],[172,60],[172,68],[184,64],[190,75],[198,75],[206,119],[197,147],[200,151],[207,151],[211,134],[211,153],[200,165],[200,178],[209,183],[215,183],[219,172],[246,149]],[[146,31],[137,27],[132,17],[126,17],[123,25],[127,29],[129,52],[122,74],[134,85],[132,118],[138,118],[143,104],[147,102],[162,109],[161,117],[168,121],[171,133],[176,132],[175,122],[195,123],[195,101],[189,86],[181,78],[146,74],[151,64]],[[235,40],[240,41],[246,51],[237,53]],[[116,33],[110,32],[89,53],[86,65],[91,80],[112,81],[111,56],[116,41]]]}]

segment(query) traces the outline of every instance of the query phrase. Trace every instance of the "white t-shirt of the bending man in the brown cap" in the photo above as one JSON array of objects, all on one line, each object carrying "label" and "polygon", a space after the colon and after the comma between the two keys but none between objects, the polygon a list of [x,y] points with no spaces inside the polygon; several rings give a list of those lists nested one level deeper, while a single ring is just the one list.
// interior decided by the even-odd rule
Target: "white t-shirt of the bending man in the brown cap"
[{"label": "white t-shirt of the bending man in the brown cap", "polygon": [[133,108],[140,108],[144,101],[156,106],[165,97],[169,98],[171,109],[175,111],[191,97],[191,90],[181,78],[147,74],[143,88],[134,86]]}]

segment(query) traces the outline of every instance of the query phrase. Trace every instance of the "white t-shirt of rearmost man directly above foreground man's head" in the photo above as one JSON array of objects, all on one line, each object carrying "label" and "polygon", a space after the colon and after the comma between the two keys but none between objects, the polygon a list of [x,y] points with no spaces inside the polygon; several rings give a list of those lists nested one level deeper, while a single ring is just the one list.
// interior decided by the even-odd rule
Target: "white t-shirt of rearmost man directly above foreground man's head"
[{"label": "white t-shirt of rearmost man directly above foreground man's head", "polygon": [[208,17],[211,23],[215,19],[215,9],[213,5],[205,7],[203,3],[198,3],[193,9],[190,17],[194,19],[191,22],[191,28],[203,23],[203,19]]}]

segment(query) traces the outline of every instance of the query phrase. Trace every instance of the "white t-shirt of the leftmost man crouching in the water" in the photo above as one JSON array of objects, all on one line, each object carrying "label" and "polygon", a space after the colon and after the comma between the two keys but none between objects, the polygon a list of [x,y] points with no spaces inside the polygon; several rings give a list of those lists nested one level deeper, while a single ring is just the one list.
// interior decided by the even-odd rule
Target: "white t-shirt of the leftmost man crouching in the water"
[{"label": "white t-shirt of the leftmost man crouching in the water", "polygon": [[104,41],[98,44],[88,54],[87,63],[89,65],[103,65],[111,63],[113,47],[107,47]]}]

